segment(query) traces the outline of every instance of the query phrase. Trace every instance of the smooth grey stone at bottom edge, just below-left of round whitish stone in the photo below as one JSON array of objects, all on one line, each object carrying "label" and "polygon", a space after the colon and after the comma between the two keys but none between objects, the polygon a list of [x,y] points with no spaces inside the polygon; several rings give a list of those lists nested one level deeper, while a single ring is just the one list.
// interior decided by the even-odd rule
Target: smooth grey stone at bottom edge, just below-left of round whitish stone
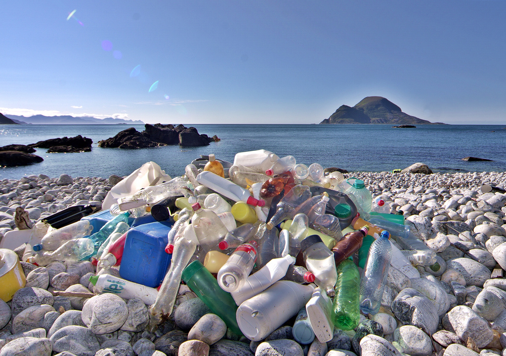
[{"label": "smooth grey stone at bottom edge, just below-left of round whitish stone", "polygon": [[94,356],[100,349],[95,334],[82,326],[65,326],[56,331],[50,339],[54,352],[69,351],[78,356]]}]

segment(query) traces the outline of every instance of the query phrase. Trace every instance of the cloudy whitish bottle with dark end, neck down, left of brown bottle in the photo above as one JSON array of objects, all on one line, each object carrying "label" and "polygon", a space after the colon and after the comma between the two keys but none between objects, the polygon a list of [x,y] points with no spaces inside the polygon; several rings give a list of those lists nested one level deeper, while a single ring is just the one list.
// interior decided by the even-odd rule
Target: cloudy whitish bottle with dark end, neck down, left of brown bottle
[{"label": "cloudy whitish bottle with dark end, neck down, left of brown bottle", "polygon": [[309,271],[315,275],[315,283],[328,296],[333,297],[334,285],[338,278],[332,251],[322,242],[320,236],[311,235],[301,242],[301,251]]}]

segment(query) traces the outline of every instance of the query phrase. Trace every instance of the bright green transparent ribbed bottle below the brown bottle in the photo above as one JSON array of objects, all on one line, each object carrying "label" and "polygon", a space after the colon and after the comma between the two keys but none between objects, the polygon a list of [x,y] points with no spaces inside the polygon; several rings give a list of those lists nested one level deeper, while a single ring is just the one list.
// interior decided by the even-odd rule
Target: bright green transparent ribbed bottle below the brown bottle
[{"label": "bright green transparent ribbed bottle below the brown bottle", "polygon": [[332,322],[342,330],[355,329],[360,321],[360,274],[353,261],[347,259],[338,266],[338,281],[332,306]]}]

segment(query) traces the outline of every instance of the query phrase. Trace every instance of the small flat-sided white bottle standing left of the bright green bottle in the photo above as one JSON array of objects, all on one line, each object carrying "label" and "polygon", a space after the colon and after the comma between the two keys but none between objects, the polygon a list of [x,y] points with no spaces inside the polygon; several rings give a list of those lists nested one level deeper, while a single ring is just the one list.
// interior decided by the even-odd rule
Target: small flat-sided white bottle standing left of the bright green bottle
[{"label": "small flat-sided white bottle standing left of the bright green bottle", "polygon": [[309,322],[320,342],[332,340],[334,324],[332,323],[332,300],[321,288],[315,288],[311,299],[306,304]]}]

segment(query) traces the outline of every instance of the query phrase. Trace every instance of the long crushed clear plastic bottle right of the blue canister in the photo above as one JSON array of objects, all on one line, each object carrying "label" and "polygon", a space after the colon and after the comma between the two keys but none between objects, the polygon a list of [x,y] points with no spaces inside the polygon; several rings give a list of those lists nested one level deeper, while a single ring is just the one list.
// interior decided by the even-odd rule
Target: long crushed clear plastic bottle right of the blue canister
[{"label": "long crushed clear plastic bottle right of the blue canister", "polygon": [[194,241],[187,240],[183,237],[175,241],[171,267],[165,275],[165,278],[163,278],[156,301],[149,309],[151,322],[156,323],[156,325],[168,319],[172,314],[174,302],[176,301],[179,285],[181,283],[181,274],[190,261],[190,258],[193,256],[195,248],[196,245]]}]

